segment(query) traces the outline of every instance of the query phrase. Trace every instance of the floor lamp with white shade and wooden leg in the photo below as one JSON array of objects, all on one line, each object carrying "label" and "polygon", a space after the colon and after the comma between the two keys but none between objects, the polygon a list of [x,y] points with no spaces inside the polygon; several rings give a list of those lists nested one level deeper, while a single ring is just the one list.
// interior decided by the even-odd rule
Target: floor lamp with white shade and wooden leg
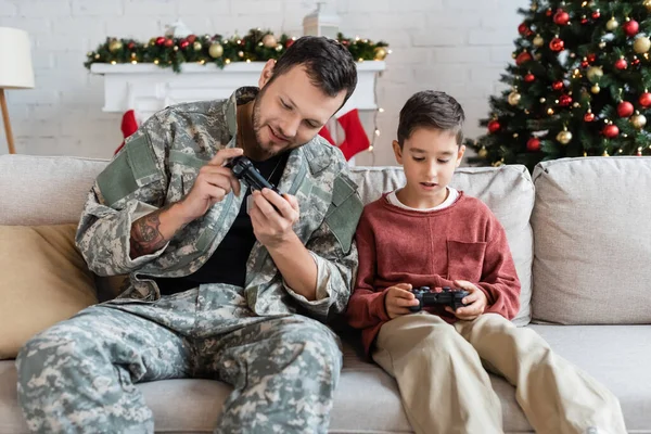
[{"label": "floor lamp with white shade and wooden leg", "polygon": [[34,88],[34,69],[29,37],[27,31],[11,27],[0,27],[0,108],[2,108],[2,123],[7,135],[9,153],[15,154],[9,122],[9,110],[4,89],[31,89]]}]

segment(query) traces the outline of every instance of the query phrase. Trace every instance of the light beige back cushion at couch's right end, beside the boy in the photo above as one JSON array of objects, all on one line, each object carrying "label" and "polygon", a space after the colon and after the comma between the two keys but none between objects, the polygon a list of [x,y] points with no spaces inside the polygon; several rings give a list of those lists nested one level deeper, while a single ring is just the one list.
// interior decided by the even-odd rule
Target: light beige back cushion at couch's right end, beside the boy
[{"label": "light beige back cushion at couch's right end, beside the boy", "polygon": [[651,323],[651,157],[547,162],[534,182],[535,320]]}]

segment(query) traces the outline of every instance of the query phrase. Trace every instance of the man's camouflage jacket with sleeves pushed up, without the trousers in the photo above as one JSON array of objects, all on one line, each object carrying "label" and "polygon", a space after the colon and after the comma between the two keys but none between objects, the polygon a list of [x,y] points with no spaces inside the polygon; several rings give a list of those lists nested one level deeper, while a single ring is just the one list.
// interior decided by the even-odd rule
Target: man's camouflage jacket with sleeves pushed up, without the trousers
[{"label": "man's camouflage jacket with sleeves pushed up, without the trousers", "polygon": [[[217,150],[235,145],[235,107],[256,92],[257,88],[241,88],[229,100],[179,104],[156,113],[98,176],[76,242],[97,275],[129,273],[129,288],[120,297],[157,299],[156,284],[145,277],[191,275],[228,232],[247,188],[243,181],[239,196],[229,193],[157,252],[136,259],[129,255],[131,224],[181,200],[200,167]],[[362,208],[357,186],[341,152],[317,136],[291,151],[278,188],[298,200],[294,231],[317,264],[317,299],[292,291],[259,242],[246,264],[243,295],[259,316],[302,311],[326,320],[345,309],[357,271],[354,233]],[[224,286],[225,293],[233,293],[232,285]]]}]

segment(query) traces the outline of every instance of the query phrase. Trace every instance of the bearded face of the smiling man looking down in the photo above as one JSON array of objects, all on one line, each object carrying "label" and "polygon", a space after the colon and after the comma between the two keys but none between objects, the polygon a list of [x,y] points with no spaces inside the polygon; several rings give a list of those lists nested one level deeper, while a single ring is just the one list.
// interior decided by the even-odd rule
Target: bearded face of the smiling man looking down
[{"label": "bearded face of the smiling man looking down", "polygon": [[[304,66],[294,66],[270,80],[273,63],[260,77],[260,92],[253,105],[256,159],[267,159],[298,148],[319,133],[342,106],[346,91],[329,97],[310,82]],[[269,69],[268,69],[269,68]]]}]

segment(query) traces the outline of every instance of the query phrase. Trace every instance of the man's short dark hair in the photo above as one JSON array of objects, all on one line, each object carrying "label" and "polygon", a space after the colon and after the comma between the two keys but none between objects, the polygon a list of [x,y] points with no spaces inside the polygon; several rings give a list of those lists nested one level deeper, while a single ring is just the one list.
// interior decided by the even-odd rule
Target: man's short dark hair
[{"label": "man's short dark hair", "polygon": [[304,36],[296,39],[276,62],[269,82],[298,65],[305,66],[311,84],[327,95],[336,97],[345,90],[344,103],[357,86],[357,65],[353,55],[334,39],[323,36]]}]

